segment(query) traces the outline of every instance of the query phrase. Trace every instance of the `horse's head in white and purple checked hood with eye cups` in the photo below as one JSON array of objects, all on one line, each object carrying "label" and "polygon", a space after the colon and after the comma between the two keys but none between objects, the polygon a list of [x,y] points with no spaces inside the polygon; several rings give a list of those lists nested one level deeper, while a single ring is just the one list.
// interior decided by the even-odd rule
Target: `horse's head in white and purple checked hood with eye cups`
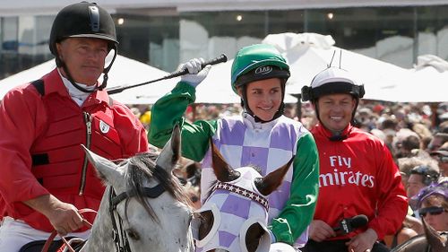
[{"label": "horse's head in white and purple checked hood with eye cups", "polygon": [[254,167],[232,169],[210,144],[218,181],[198,211],[196,251],[269,251],[267,196],[280,187],[294,158],[263,177]]}]

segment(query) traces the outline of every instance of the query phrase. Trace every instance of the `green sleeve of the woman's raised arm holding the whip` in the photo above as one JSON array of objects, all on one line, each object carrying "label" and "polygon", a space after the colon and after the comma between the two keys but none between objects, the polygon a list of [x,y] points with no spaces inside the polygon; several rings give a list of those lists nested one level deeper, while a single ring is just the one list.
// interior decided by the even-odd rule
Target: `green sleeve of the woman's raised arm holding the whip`
[{"label": "green sleeve of the woman's raised arm holding the whip", "polygon": [[182,155],[193,161],[202,161],[209,148],[209,139],[214,135],[218,123],[216,120],[199,120],[194,123],[185,120],[185,109],[194,103],[195,92],[194,87],[181,82],[156,101],[151,109],[148,141],[162,148],[168,142],[173,127],[179,124],[182,128]]}]

